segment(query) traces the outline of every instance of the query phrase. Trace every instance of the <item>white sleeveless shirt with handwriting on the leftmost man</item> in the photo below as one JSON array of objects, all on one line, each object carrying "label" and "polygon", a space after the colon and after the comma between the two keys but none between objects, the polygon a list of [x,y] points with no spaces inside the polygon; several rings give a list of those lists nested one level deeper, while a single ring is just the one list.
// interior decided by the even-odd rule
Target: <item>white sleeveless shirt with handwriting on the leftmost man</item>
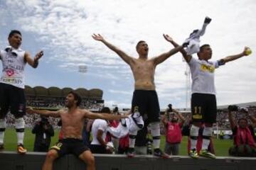
[{"label": "white sleeveless shirt with handwriting on the leftmost man", "polygon": [[18,88],[24,89],[24,60],[25,51],[20,48],[14,49],[11,46],[0,51],[0,59],[3,64],[0,82],[11,84]]}]

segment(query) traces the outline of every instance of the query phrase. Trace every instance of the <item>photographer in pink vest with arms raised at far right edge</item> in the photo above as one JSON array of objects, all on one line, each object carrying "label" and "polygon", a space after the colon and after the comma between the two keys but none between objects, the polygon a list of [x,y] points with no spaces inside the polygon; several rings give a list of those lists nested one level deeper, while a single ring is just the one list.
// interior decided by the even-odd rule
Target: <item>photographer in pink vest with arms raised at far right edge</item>
[{"label": "photographer in pink vest with arms raised at far right edge", "polygon": [[[233,118],[235,113],[243,113],[245,116],[238,119],[238,123]],[[252,125],[248,123],[247,118],[252,121]],[[230,128],[233,132],[234,146],[230,147],[229,154],[236,157],[255,157],[256,143],[254,140],[253,126],[256,123],[255,118],[251,115],[247,108],[238,108],[238,106],[228,106],[228,119]],[[254,124],[253,124],[254,123]]]}]

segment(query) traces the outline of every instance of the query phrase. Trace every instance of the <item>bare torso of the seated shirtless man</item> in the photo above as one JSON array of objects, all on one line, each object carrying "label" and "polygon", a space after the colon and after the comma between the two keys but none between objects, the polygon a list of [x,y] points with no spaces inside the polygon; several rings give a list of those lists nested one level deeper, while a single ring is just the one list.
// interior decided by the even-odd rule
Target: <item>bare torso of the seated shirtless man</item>
[{"label": "bare torso of the seated shirtless man", "polygon": [[82,139],[82,128],[85,121],[85,112],[79,108],[74,111],[61,111],[60,118],[62,121],[61,131],[63,138]]}]

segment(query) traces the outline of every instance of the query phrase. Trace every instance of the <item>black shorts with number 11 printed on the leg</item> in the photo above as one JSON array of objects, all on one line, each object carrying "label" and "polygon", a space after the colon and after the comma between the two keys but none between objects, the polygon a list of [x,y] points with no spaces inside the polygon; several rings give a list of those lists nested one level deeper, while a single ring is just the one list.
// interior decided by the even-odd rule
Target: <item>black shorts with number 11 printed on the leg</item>
[{"label": "black shorts with number 11 printed on the leg", "polygon": [[214,94],[192,94],[193,122],[216,123],[217,103]]}]

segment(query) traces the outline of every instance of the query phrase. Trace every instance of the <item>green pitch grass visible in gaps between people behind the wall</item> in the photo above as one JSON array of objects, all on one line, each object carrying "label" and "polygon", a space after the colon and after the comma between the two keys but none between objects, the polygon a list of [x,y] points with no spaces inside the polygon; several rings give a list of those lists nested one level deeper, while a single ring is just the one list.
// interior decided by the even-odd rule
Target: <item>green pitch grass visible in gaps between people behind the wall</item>
[{"label": "green pitch grass visible in gaps between people behind the wall", "polygon": [[[52,137],[51,146],[58,141],[59,130],[55,130],[55,135]],[[26,129],[24,137],[24,145],[28,152],[33,151],[33,142],[35,135],[31,133],[31,129]],[[180,146],[180,154],[187,155],[187,137],[183,137]],[[228,156],[228,148],[233,145],[232,140],[217,140],[214,139],[214,147],[217,156]],[[161,136],[161,149],[164,149],[165,137]],[[17,137],[14,128],[7,128],[4,137],[4,147],[6,151],[16,151]]]}]

